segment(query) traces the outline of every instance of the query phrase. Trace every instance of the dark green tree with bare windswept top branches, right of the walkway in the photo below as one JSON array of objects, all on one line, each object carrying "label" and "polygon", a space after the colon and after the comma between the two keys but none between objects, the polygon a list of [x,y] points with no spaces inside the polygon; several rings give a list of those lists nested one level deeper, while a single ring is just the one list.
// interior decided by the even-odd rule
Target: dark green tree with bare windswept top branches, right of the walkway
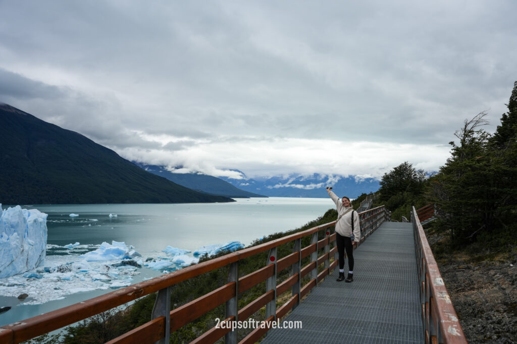
[{"label": "dark green tree with bare windswept top branches, right of the walkway", "polygon": [[483,229],[490,231],[493,222],[490,185],[495,174],[486,156],[490,135],[481,128],[488,124],[485,116],[486,112],[481,112],[464,121],[454,133],[459,144],[449,142],[451,157],[431,179],[431,199],[455,242],[472,238]]}]

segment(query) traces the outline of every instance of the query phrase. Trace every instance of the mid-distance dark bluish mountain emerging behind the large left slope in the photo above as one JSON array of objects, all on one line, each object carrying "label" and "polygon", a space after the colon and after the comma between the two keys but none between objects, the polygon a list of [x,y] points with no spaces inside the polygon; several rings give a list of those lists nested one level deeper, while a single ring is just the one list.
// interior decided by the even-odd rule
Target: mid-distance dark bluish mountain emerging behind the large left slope
[{"label": "mid-distance dark bluish mountain emerging behind the large left slope", "polygon": [[[133,161],[134,162],[134,161]],[[172,173],[164,166],[146,165],[145,163],[134,162],[153,174],[169,179],[171,182],[185,186],[189,189],[205,192],[214,195],[221,195],[230,198],[267,197],[261,194],[244,191],[220,178],[201,173]]]}]

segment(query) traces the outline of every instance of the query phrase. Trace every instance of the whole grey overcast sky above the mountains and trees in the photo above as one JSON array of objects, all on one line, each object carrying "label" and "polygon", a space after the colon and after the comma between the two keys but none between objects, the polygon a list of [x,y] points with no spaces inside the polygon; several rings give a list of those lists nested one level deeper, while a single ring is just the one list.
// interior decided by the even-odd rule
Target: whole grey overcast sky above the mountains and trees
[{"label": "whole grey overcast sky above the mountains and trees", "polygon": [[[517,2],[0,0],[0,102],[216,176],[436,171],[517,80]],[[185,171],[183,170],[183,171]]]}]

